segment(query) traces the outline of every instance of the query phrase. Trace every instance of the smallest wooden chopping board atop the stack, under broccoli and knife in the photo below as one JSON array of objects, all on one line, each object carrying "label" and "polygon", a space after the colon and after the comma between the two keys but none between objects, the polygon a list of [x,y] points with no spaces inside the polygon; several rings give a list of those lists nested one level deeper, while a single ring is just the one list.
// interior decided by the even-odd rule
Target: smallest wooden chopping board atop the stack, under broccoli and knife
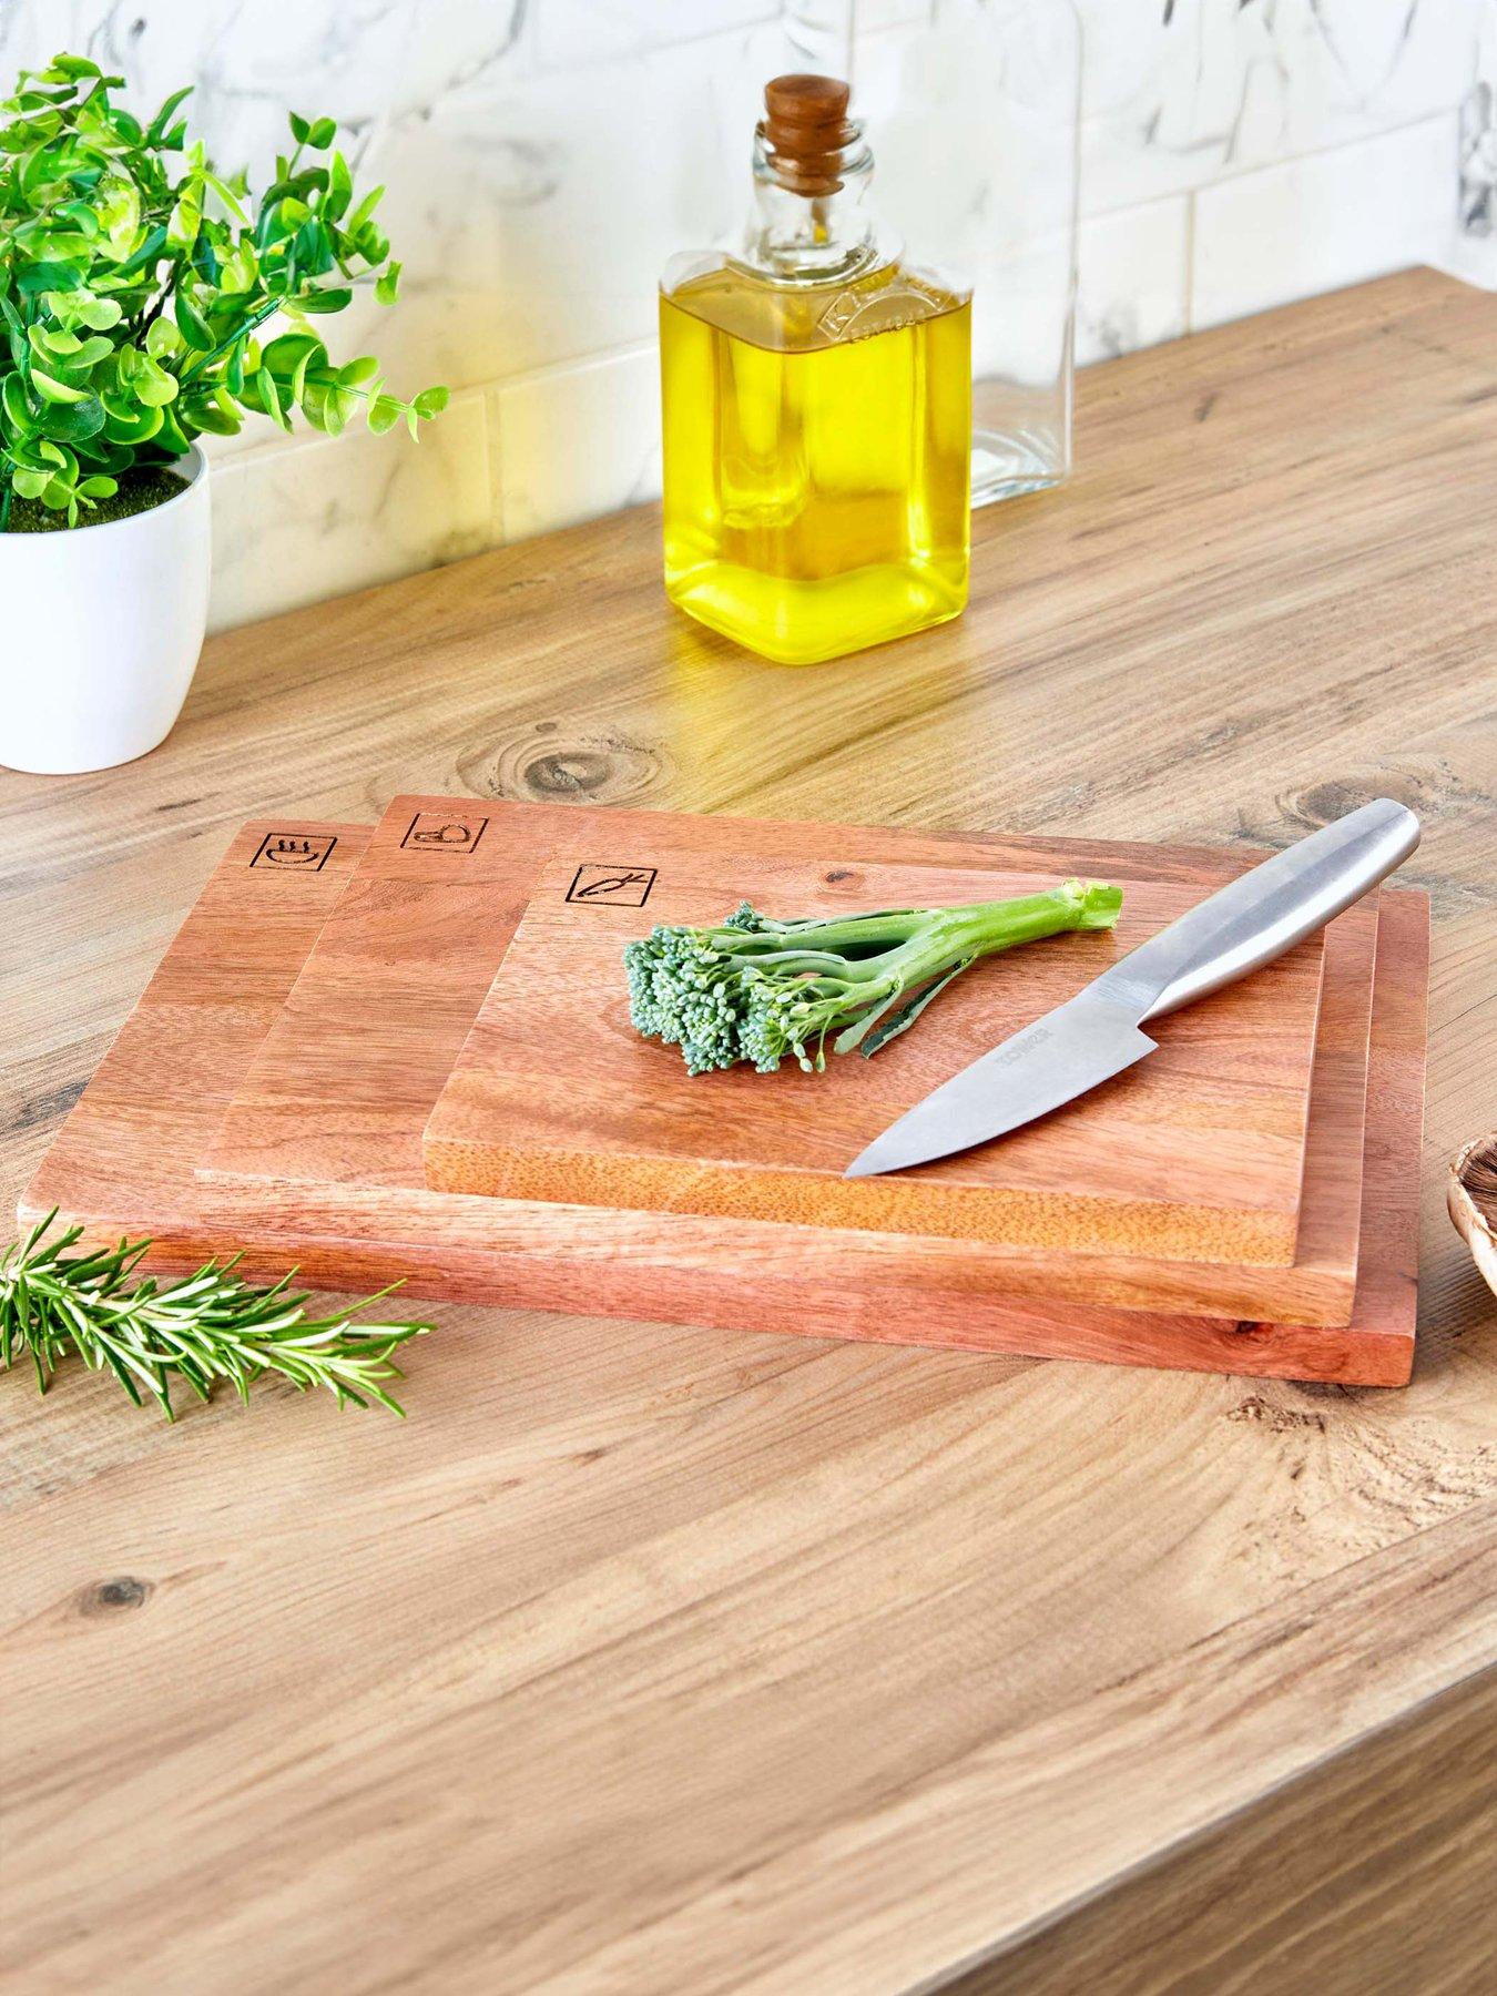
[{"label": "smallest wooden chopping board atop the stack, under broccoli and knife", "polygon": [[996,870],[980,850],[912,866],[898,830],[864,834],[878,858],[858,866],[828,862],[814,832],[794,860],[770,858],[745,818],[683,816],[671,836],[675,854],[637,854],[653,874],[645,908],[627,904],[639,888],[625,902],[579,900],[591,846],[577,834],[557,846],[427,1124],[427,1184],[1058,1253],[1293,1261],[1321,936],[1162,1020],[1156,1054],[1002,1144],[848,1180],[844,1166],[932,1088],[1074,998],[1210,886],[1154,882],[1120,848],[1106,872],[1124,894],[1116,932],[1048,936],[974,964],[922,1032],[876,1060],[691,1078],[677,1048],[629,1024],[623,950],[653,922],[721,922],[745,900],[782,918],[1008,900],[1078,868],[1062,852],[1050,868]]}]

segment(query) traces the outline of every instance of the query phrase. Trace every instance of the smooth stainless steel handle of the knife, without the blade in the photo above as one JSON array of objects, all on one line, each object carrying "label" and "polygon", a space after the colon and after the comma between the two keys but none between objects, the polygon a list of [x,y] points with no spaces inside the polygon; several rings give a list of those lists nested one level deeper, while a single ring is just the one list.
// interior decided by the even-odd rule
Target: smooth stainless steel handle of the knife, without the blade
[{"label": "smooth stainless steel handle of the knife, without the blade", "polygon": [[1176,1012],[1283,956],[1385,880],[1417,844],[1415,814],[1379,796],[1232,880],[1098,984],[1108,996],[1144,1006],[1140,1022]]}]

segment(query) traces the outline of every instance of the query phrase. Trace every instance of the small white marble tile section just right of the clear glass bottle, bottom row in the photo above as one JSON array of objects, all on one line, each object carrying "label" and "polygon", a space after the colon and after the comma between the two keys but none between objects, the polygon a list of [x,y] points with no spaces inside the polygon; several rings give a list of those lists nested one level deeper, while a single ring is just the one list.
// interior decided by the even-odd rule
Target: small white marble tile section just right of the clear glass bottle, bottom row
[{"label": "small white marble tile section just right of the clear glass bottle, bottom row", "polygon": [[1190,196],[1090,216],[1078,234],[1076,361],[1178,339],[1190,303]]}]

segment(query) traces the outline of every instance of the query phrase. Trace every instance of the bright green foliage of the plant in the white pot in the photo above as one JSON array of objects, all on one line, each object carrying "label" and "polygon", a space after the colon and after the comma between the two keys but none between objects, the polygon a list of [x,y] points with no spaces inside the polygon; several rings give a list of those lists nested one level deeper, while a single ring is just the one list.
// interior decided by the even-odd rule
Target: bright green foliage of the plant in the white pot
[{"label": "bright green foliage of the plant in the white pot", "polygon": [[142,124],[122,84],[64,54],[0,104],[0,529],[16,497],[78,525],[122,473],[246,411],[289,429],[299,409],[335,437],[363,407],[369,429],[415,435],[447,403],[391,395],[371,355],[335,365],[309,323],[355,287],[391,305],[401,271],[373,220],[383,188],[355,194],[331,118],[291,114],[293,148],[251,196],[188,142],[186,90]]}]

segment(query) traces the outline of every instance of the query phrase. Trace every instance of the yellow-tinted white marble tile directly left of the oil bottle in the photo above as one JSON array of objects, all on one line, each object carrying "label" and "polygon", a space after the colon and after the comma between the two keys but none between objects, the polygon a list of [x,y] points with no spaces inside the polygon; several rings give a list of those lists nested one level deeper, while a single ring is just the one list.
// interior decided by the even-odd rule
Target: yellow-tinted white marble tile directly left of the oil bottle
[{"label": "yellow-tinted white marble tile directly left of the oil bottle", "polygon": [[571,527],[661,491],[661,369],[653,345],[551,367],[493,391],[505,541]]}]

